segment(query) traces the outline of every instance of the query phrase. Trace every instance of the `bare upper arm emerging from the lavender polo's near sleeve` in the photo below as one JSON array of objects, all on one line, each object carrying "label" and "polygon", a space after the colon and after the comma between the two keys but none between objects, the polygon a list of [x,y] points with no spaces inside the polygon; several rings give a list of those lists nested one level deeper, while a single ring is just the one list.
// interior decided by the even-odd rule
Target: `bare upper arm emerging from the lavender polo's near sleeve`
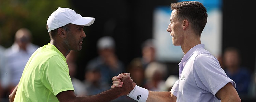
[{"label": "bare upper arm emerging from the lavender polo's near sleeve", "polygon": [[221,102],[241,102],[241,99],[231,82],[221,88],[216,93],[216,96],[221,99]]}]

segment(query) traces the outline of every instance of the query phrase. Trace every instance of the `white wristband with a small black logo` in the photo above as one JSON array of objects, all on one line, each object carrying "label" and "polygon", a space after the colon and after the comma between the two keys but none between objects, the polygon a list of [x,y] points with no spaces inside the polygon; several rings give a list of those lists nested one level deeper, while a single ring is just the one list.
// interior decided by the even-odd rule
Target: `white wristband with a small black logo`
[{"label": "white wristband with a small black logo", "polygon": [[138,102],[146,102],[148,97],[148,90],[136,85],[127,96]]}]

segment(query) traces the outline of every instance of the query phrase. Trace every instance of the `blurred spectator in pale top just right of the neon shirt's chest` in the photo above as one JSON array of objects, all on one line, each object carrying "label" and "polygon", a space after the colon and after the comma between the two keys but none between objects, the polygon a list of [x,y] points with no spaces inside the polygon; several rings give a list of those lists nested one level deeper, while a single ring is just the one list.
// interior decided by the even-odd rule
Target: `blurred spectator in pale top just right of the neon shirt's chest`
[{"label": "blurred spectator in pale top just right of the neon shirt's chest", "polygon": [[81,80],[76,78],[76,74],[77,74],[76,59],[77,59],[77,52],[73,50],[71,50],[69,54],[66,56],[66,62],[69,67],[69,75],[75,90],[75,94],[77,96],[85,96],[86,95],[85,84]]}]

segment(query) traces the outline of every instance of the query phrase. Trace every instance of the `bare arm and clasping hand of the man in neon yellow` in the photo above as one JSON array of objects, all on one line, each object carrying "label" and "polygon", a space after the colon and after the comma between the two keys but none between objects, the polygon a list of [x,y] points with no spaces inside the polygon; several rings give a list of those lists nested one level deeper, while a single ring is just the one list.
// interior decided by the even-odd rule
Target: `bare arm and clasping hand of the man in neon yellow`
[{"label": "bare arm and clasping hand of the man in neon yellow", "polygon": [[63,91],[56,95],[60,102],[109,102],[120,96],[127,95],[131,90],[134,89],[135,83],[130,77],[130,74],[126,74],[125,77],[121,79],[125,87],[122,88],[111,88],[107,91],[101,92],[97,95],[77,97],[74,91]]}]

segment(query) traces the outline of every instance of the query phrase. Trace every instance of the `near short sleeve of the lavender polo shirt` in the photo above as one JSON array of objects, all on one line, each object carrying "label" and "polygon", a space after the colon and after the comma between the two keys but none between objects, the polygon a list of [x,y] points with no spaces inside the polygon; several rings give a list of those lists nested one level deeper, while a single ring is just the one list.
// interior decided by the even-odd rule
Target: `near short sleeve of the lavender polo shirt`
[{"label": "near short sleeve of the lavender polo shirt", "polygon": [[236,87],[235,82],[227,77],[224,70],[220,67],[218,60],[212,55],[198,55],[194,62],[193,71],[197,86],[205,91],[211,92],[214,97],[229,82]]}]

